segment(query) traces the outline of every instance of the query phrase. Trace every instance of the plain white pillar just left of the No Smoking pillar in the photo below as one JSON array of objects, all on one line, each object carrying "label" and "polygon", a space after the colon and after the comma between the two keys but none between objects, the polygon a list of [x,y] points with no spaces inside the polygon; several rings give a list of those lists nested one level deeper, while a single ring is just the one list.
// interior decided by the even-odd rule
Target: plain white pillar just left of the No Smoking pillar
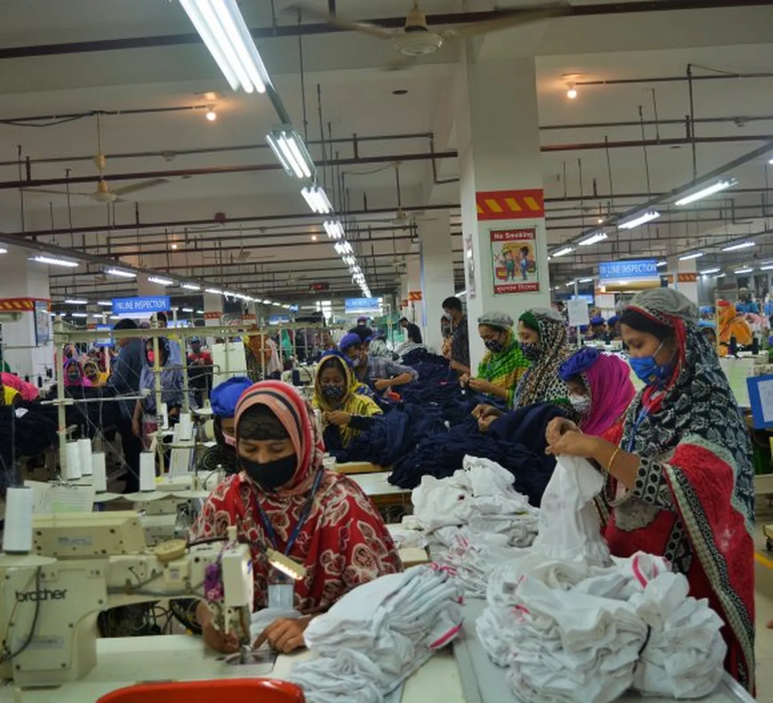
[{"label": "plain white pillar just left of the No Smoking pillar", "polygon": [[440,351],[443,345],[440,318],[443,301],[455,294],[454,255],[451,253],[451,222],[448,210],[432,213],[421,222],[421,293],[424,344]]}]

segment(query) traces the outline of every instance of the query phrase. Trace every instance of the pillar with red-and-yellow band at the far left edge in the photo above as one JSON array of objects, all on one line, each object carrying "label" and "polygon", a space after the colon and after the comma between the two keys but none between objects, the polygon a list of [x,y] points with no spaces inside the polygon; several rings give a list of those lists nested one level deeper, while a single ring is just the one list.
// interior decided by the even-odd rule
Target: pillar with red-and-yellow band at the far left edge
[{"label": "pillar with red-and-yellow band at the far left edge", "polygon": [[[29,261],[28,249],[17,246],[9,246],[7,249],[8,253],[0,254],[0,299],[31,300],[32,307],[34,301],[50,303],[49,267]],[[63,271],[57,268],[57,273]],[[44,326],[45,321],[40,322],[40,326]],[[50,329],[50,316],[48,322]],[[39,343],[34,310],[22,311],[18,321],[3,321],[0,324],[3,358],[12,372],[22,378],[29,376],[34,382],[37,376],[46,375],[46,370],[53,369],[53,343]]]}]

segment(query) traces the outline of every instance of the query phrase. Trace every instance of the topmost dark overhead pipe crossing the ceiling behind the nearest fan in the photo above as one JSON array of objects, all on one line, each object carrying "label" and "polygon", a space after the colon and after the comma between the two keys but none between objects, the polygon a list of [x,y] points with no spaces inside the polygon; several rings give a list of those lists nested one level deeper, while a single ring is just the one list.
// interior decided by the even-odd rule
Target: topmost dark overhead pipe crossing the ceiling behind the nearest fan
[{"label": "topmost dark overhead pipe crossing the ceiling behind the nearest fan", "polygon": [[[770,5],[768,0],[736,0],[730,7],[761,7]],[[722,9],[727,8],[726,0],[635,0],[635,2],[596,3],[594,5],[571,6],[569,17],[595,17],[598,15],[629,15],[641,12],[673,12],[679,10]],[[490,10],[484,12],[446,12],[427,15],[427,24],[455,25],[468,22],[487,22],[492,19],[511,17],[512,11]],[[367,21],[367,20],[366,20]],[[405,25],[405,15],[398,17],[380,17],[369,20],[386,29],[399,29]],[[273,39],[274,37],[294,37],[298,35],[334,34],[349,32],[350,29],[329,25],[326,22],[313,24],[271,25],[250,29],[254,39]],[[39,44],[36,46],[7,46],[0,49],[0,59],[23,59],[32,56],[63,56],[65,54],[121,51],[124,49],[148,49],[162,46],[186,46],[199,44],[198,34],[167,34],[157,36],[127,37],[122,39],[96,39],[83,42],[60,42]]]}]

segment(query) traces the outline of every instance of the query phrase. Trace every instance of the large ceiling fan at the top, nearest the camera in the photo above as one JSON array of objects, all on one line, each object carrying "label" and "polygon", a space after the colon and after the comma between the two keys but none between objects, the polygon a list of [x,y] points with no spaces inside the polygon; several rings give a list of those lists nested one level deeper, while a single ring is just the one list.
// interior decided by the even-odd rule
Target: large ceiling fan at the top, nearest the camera
[{"label": "large ceiling fan at the top, nearest the camera", "polygon": [[373,24],[373,22],[359,22],[355,19],[346,19],[341,15],[323,12],[312,5],[308,5],[306,2],[295,3],[295,5],[291,5],[291,8],[322,19],[329,25],[355,32],[363,32],[363,34],[369,34],[376,37],[376,39],[386,39],[392,42],[394,50],[400,54],[400,57],[390,63],[389,66],[386,66],[386,70],[407,68],[407,66],[415,63],[420,56],[435,53],[448,42],[469,39],[470,37],[481,36],[490,32],[498,32],[502,29],[509,29],[510,27],[525,25],[530,22],[538,22],[540,19],[562,17],[570,15],[572,12],[572,8],[567,3],[501,9],[498,11],[499,16],[495,17],[495,19],[469,22],[468,24],[457,25],[451,29],[435,32],[431,29],[430,25],[427,25],[427,15],[419,7],[419,0],[414,0],[414,5],[410,8],[405,19],[405,26],[402,29],[389,29]]}]

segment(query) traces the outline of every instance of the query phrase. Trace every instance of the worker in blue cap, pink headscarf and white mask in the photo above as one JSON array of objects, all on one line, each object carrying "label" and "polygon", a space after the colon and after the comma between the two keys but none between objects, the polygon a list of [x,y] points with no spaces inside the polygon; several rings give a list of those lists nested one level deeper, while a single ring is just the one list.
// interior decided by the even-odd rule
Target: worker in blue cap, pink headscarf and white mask
[{"label": "worker in blue cap, pink headscarf and white mask", "polygon": [[586,434],[601,436],[621,421],[636,395],[631,367],[621,358],[584,347],[558,369],[571,392],[570,402]]}]

